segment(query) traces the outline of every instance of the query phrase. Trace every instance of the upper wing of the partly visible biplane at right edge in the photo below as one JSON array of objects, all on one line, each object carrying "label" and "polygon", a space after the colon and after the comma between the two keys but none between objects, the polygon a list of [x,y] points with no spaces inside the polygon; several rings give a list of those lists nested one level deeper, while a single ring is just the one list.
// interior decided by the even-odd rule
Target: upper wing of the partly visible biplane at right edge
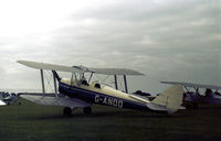
[{"label": "upper wing of the partly visible biplane at right edge", "polygon": [[162,84],[171,84],[171,85],[181,85],[186,87],[193,87],[193,88],[210,88],[210,89],[221,89],[221,86],[213,86],[213,85],[202,85],[202,84],[192,84],[192,83],[179,83],[179,82],[160,82]]}]

